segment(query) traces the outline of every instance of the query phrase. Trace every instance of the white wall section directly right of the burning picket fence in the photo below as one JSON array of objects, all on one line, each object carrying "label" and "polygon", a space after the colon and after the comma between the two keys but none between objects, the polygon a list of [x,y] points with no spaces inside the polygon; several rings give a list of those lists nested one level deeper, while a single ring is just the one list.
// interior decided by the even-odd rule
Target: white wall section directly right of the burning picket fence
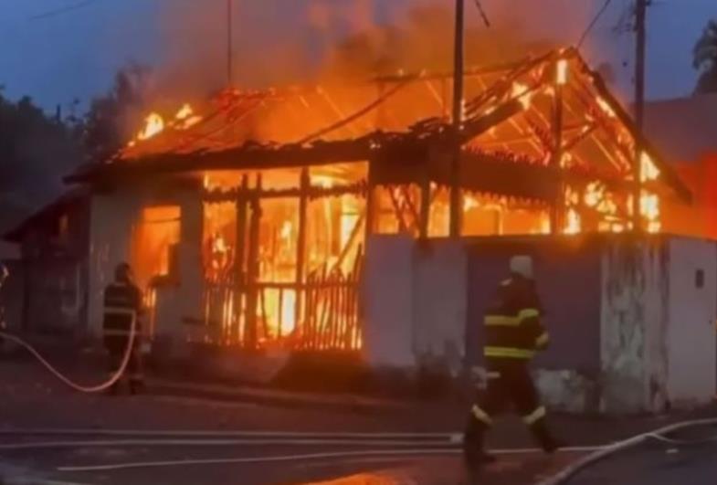
[{"label": "white wall section directly right of the burning picket fence", "polygon": [[412,367],[413,245],[410,237],[371,236],[364,273],[364,359],[372,367]]}]

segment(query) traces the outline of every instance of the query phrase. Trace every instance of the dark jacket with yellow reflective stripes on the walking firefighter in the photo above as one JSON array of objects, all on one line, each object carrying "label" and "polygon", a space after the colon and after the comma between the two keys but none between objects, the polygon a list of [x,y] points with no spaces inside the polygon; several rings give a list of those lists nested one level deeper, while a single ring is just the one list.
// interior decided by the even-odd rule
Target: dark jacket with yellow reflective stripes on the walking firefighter
[{"label": "dark jacket with yellow reflective stripes on the walking firefighter", "polygon": [[549,342],[541,323],[542,306],[532,279],[511,276],[498,288],[486,312],[485,347],[490,362],[527,362]]}]

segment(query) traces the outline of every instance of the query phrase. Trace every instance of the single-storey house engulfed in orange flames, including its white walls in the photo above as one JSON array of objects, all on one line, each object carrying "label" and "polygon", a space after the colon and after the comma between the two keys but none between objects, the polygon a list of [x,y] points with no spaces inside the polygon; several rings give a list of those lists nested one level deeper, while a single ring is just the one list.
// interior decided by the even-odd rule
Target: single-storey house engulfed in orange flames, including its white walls
[{"label": "single-storey house engulfed in orange flames, including its white walls", "polygon": [[[449,75],[227,90],[152,114],[121,153],[67,178],[91,192],[88,329],[100,331],[101,291],[128,260],[148,332],[175,353],[339,351],[455,370],[480,365],[479,295],[522,251],[538,260],[554,325],[549,396],[651,410],[713,395],[717,251],[664,236],[663,214],[690,192],[602,79],[563,49],[468,69],[465,90],[459,238]],[[620,234],[638,219],[635,194],[637,238]],[[696,255],[697,277],[672,274]],[[692,302],[712,291],[689,337],[699,356],[672,338],[686,324],[673,292],[690,289]],[[684,384],[695,359],[712,368]]]}]

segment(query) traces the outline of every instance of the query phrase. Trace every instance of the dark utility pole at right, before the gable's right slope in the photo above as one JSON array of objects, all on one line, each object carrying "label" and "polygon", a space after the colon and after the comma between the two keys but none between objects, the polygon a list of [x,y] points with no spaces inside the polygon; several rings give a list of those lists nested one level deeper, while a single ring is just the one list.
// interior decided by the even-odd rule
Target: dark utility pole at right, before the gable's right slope
[{"label": "dark utility pole at right, before the gable's right slope", "polygon": [[638,137],[635,139],[635,162],[633,177],[635,184],[632,193],[633,230],[642,231],[640,198],[642,197],[642,146],[641,137],[645,128],[645,49],[647,44],[647,10],[649,0],[636,0],[635,30],[635,126]]}]

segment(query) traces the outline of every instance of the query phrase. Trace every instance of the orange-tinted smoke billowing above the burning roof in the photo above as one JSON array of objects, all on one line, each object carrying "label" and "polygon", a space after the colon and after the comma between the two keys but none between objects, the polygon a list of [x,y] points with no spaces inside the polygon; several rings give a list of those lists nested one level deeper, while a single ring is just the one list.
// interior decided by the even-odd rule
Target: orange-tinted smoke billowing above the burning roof
[{"label": "orange-tinted smoke billowing above the burning roof", "polygon": [[[467,0],[466,61],[503,62],[573,44],[592,13],[575,0]],[[242,88],[452,67],[452,0],[234,0],[233,83]],[[227,0],[163,5],[157,95],[203,98],[227,86]]]}]

